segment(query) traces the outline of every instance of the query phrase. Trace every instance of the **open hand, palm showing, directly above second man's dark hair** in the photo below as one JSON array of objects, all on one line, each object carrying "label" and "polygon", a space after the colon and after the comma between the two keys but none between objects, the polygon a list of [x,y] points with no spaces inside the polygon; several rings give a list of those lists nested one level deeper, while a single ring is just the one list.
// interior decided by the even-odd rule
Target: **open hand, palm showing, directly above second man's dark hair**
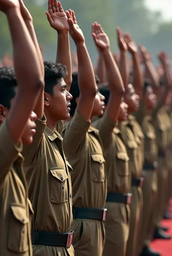
[{"label": "open hand, palm showing, directly above second man's dark hair", "polygon": [[45,12],[50,26],[56,31],[69,31],[69,24],[66,13],[64,12],[61,3],[57,0],[48,0],[48,12]]}]

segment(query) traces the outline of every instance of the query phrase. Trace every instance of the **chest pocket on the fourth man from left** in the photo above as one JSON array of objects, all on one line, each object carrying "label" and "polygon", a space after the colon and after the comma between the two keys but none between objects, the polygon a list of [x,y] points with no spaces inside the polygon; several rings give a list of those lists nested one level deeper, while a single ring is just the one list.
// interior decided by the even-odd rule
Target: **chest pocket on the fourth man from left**
[{"label": "chest pocket on the fourth man from left", "polygon": [[116,154],[116,168],[118,175],[126,177],[129,175],[129,157],[126,152]]}]

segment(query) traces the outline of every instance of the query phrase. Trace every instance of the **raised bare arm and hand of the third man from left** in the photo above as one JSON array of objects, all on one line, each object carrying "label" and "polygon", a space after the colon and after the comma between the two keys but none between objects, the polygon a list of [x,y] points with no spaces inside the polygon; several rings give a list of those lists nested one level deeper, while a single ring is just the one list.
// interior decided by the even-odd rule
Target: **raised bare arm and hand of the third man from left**
[{"label": "raised bare arm and hand of the third man from left", "polygon": [[87,52],[85,38],[77,24],[74,11],[66,11],[66,15],[69,21],[70,36],[77,48],[79,86],[77,111],[83,118],[89,121],[97,92],[93,65],[91,63],[89,53]]}]

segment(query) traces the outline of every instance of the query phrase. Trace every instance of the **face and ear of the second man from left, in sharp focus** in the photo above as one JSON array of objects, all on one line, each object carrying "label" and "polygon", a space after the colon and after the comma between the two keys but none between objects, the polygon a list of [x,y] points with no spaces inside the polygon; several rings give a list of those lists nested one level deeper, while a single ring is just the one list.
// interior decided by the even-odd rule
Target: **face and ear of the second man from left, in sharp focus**
[{"label": "face and ear of the second man from left, in sharp focus", "polygon": [[70,117],[70,100],[72,96],[66,90],[64,79],[60,79],[53,88],[53,95],[44,93],[44,110],[46,117],[52,117],[54,120],[66,120]]}]

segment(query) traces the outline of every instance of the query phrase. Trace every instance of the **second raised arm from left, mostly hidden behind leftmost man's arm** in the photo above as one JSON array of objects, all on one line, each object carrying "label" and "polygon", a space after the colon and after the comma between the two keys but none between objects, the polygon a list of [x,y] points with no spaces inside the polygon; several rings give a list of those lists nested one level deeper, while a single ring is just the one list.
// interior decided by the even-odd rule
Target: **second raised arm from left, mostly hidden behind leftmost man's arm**
[{"label": "second raised arm from left, mostly hidden behind leftmost man's arm", "polygon": [[[38,60],[40,62],[40,65],[41,65],[42,76],[44,77],[44,63],[43,63],[43,59],[42,59],[41,49],[40,49],[40,46],[38,44],[36,33],[34,31],[32,16],[30,15],[28,9],[25,7],[23,1],[19,0],[19,3],[20,3],[21,15],[22,15],[22,17],[25,21],[26,27],[28,28],[30,36],[33,40],[33,43],[34,43],[35,47],[36,47],[37,57],[38,57]],[[42,90],[42,92],[40,93],[37,104],[34,107],[34,112],[37,114],[37,117],[39,119],[42,119],[42,116],[43,116],[43,113],[44,113],[44,90]]]}]

